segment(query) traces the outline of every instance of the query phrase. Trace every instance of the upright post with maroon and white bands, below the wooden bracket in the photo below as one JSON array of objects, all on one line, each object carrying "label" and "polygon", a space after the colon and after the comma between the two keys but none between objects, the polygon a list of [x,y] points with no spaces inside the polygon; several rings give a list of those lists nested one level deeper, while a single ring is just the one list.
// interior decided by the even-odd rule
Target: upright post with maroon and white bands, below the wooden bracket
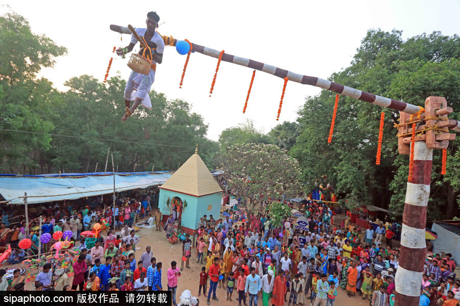
[{"label": "upright post with maroon and white bands, below the wooden bracket", "polygon": [[416,141],[413,176],[407,181],[401,229],[401,255],[396,272],[395,306],[418,305],[426,256],[426,208],[430,195],[433,149]]}]

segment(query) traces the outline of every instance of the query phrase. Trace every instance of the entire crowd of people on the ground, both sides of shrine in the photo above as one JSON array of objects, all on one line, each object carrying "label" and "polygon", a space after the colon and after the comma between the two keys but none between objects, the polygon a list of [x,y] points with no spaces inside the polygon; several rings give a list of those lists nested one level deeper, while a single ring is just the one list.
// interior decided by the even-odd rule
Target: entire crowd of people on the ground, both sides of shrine
[{"label": "entire crowd of people on the ground, both sides of shrine", "polygon": [[[78,253],[73,258],[71,273],[68,268],[43,262],[35,277],[35,290],[164,290],[163,263],[156,260],[150,246],[142,254],[135,248],[140,238],[131,228],[134,220],[148,218],[146,223],[155,223],[156,231],[164,230],[170,243],[181,243],[180,267],[172,261],[166,272],[174,305],[178,277],[184,268],[190,269],[192,253],[202,266],[197,275],[198,296],[205,295],[208,305],[211,300],[219,300],[219,289],[224,290],[225,297],[221,298],[235,299],[240,306],[247,302],[257,306],[259,298],[264,306],[334,306],[341,291],[350,298],[360,296],[372,306],[386,306],[395,293],[399,249],[393,247],[392,240],[400,227],[395,223],[380,224],[376,230],[371,223],[361,231],[348,219],[338,222],[333,208],[319,201],[304,207],[308,228],[300,230],[288,217],[284,225],[274,228],[270,217],[263,213],[251,213],[246,216],[247,221],[238,224],[228,216],[215,219],[210,215],[208,219],[204,215],[193,243],[189,234],[176,231],[173,215],[163,223],[162,213],[156,208],[152,210],[150,201],[150,196],[144,194],[134,198],[120,196],[116,206],[105,211],[101,207],[74,205],[46,208],[41,212],[41,235],[70,230],[73,235],[68,249],[77,249]],[[5,218],[6,215],[9,217]],[[0,240],[0,247],[11,244],[13,253],[8,261],[15,264],[25,257],[36,258],[38,220],[30,222],[32,246],[26,256],[24,249],[18,249],[18,241],[25,237],[25,220],[14,212],[3,212],[3,216],[10,224],[0,224],[0,237],[6,237]],[[12,222],[14,218],[19,221]],[[106,236],[86,246],[87,239],[80,239],[80,234],[101,219],[109,223],[107,232],[103,232]],[[2,235],[5,231],[7,234]],[[114,235],[114,231],[120,231],[120,235]],[[52,252],[53,243],[54,240],[43,243],[41,253]],[[454,270],[450,253],[444,258],[441,254],[427,257],[420,305],[458,304],[460,281],[455,281]],[[4,279],[5,274],[0,269],[0,290],[24,290],[25,277],[20,270],[15,270],[9,280]]]}]

